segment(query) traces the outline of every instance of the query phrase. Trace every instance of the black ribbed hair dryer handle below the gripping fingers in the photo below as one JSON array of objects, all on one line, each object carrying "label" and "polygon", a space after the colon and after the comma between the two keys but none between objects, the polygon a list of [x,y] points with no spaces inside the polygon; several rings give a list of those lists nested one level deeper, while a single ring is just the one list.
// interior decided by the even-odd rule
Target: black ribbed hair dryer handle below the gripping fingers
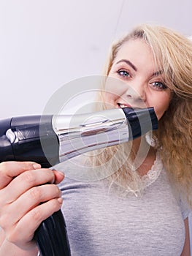
[{"label": "black ribbed hair dryer handle below the gripping fingers", "polygon": [[71,256],[66,223],[61,210],[39,225],[34,238],[42,256]]}]

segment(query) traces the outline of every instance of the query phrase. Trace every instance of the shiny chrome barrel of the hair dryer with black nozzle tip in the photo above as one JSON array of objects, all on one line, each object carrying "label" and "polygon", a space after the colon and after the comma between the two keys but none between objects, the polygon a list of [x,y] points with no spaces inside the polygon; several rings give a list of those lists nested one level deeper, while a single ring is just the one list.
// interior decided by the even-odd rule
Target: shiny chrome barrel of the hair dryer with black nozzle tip
[{"label": "shiny chrome barrel of the hair dryer with black nozzle tip", "polygon": [[53,116],[59,162],[98,148],[134,140],[157,129],[153,108],[115,108],[75,116]]}]

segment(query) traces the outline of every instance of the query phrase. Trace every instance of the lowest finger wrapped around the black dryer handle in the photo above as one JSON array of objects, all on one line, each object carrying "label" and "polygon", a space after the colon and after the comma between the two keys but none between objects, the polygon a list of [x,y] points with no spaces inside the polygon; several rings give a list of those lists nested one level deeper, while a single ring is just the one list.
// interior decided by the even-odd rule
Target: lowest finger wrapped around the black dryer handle
[{"label": "lowest finger wrapped around the black dryer handle", "polygon": [[15,229],[9,233],[8,240],[20,247],[25,246],[25,244],[28,246],[27,244],[34,238],[34,232],[40,223],[58,211],[61,205],[62,199],[59,197],[32,209],[15,225]]}]

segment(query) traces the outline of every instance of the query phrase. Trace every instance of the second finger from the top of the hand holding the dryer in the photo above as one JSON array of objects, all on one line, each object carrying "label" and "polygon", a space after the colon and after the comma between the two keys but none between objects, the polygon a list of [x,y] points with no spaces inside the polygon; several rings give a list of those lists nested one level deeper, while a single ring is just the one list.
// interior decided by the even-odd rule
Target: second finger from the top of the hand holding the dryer
[{"label": "second finger from the top of the hand holding the dryer", "polygon": [[20,176],[14,178],[7,187],[0,191],[0,206],[14,202],[20,195],[31,189],[31,187],[46,183],[53,184],[54,181],[55,175],[53,170],[27,170],[21,173]]}]

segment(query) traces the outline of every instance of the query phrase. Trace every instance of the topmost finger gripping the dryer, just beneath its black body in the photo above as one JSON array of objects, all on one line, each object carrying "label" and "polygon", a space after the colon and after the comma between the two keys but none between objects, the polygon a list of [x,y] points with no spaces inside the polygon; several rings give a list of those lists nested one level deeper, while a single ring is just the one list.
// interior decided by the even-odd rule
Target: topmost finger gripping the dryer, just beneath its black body
[{"label": "topmost finger gripping the dryer, just beneath its black body", "polygon": [[40,168],[41,165],[36,162],[1,162],[0,163],[0,189],[4,188],[20,173],[26,170],[34,170]]}]

